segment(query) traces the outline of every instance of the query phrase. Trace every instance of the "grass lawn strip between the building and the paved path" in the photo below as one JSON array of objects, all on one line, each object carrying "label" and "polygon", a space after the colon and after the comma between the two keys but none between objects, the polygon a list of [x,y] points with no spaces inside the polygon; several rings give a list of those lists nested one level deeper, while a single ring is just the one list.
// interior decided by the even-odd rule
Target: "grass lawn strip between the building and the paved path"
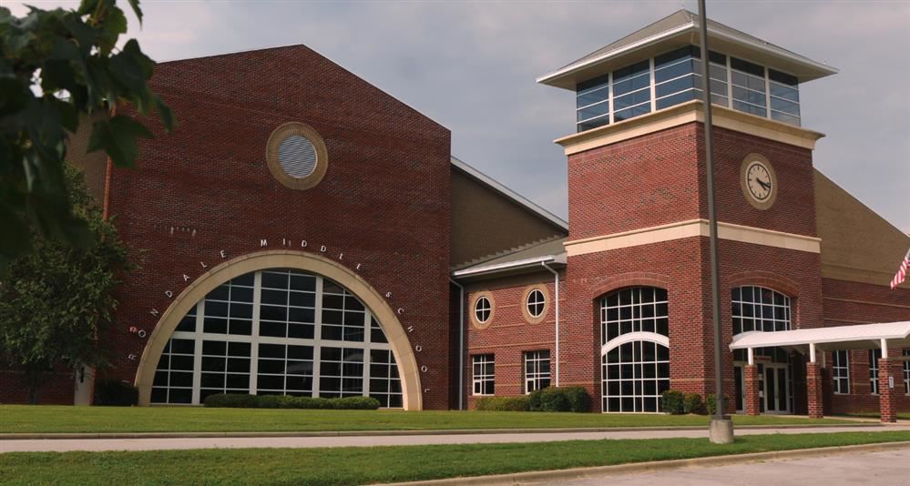
[{"label": "grass lawn strip between the building and the paved path", "polygon": [[[0,406],[0,433],[316,430],[553,429],[707,426],[700,415],[508,411],[272,410],[201,407]],[[846,420],[734,416],[736,425],[833,424]]]}]

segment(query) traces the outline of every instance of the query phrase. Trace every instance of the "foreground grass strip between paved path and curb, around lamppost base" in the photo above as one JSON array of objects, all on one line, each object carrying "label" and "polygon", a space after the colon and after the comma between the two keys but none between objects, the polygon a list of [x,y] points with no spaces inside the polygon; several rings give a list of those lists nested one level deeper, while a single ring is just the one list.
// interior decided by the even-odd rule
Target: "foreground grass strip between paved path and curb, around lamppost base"
[{"label": "foreground grass strip between paved path and curb, around lamppost base", "polygon": [[910,432],[329,449],[8,452],[5,484],[363,484],[910,440]]}]

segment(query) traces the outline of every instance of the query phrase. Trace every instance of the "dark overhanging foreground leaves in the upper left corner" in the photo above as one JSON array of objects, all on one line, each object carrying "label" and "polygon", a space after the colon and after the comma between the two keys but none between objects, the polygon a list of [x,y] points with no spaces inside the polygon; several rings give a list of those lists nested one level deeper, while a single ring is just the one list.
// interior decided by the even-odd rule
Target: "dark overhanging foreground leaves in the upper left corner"
[{"label": "dark overhanging foreground leaves in the upper left corner", "polygon": [[[141,23],[138,0],[128,3]],[[174,127],[147,85],[155,62],[135,39],[118,48],[126,31],[117,0],[82,0],[76,10],[29,7],[22,18],[0,7],[0,276],[33,235],[76,248],[97,243],[66,196],[66,140],[80,118],[95,120],[88,151],[105,151],[119,167],[132,167],[137,138],[152,134],[115,107],[157,112],[166,130]]]}]

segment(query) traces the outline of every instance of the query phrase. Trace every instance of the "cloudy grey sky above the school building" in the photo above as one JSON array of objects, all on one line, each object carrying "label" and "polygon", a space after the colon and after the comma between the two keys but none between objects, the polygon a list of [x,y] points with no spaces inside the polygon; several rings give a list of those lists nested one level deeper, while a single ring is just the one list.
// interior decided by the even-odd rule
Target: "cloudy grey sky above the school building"
[{"label": "cloudy grey sky above the school building", "polygon": [[[144,0],[142,8],[141,30],[128,14],[128,37],[157,61],[304,44],[449,128],[455,157],[566,218],[566,157],[553,140],[574,132],[575,96],[535,79],[698,5]],[[840,69],[800,89],[803,127],[826,135],[814,165],[910,233],[910,0],[709,0],[707,9]]]}]

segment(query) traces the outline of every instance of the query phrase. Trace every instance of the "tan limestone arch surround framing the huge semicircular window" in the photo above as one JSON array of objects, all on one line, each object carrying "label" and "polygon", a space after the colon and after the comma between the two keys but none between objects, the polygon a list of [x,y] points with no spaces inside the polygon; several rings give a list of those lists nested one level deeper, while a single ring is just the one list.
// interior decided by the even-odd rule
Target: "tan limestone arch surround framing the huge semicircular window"
[{"label": "tan limestone arch surround framing the huge semicircular window", "polygon": [[168,343],[171,334],[174,333],[174,329],[177,329],[180,319],[183,319],[189,309],[205,298],[211,290],[231,278],[266,268],[295,268],[316,273],[338,282],[361,299],[379,320],[379,324],[389,340],[395,361],[398,363],[398,372],[402,379],[404,410],[423,409],[420,370],[417,367],[414,351],[411,349],[401,321],[385,302],[382,294],[373,289],[373,286],[353,270],[338,262],[311,253],[291,250],[265,250],[232,258],[211,268],[180,292],[168,309],[161,314],[158,325],[151,332],[146,347],[142,350],[135,381],[139,390],[139,405],[148,405],[161,351]]}]

